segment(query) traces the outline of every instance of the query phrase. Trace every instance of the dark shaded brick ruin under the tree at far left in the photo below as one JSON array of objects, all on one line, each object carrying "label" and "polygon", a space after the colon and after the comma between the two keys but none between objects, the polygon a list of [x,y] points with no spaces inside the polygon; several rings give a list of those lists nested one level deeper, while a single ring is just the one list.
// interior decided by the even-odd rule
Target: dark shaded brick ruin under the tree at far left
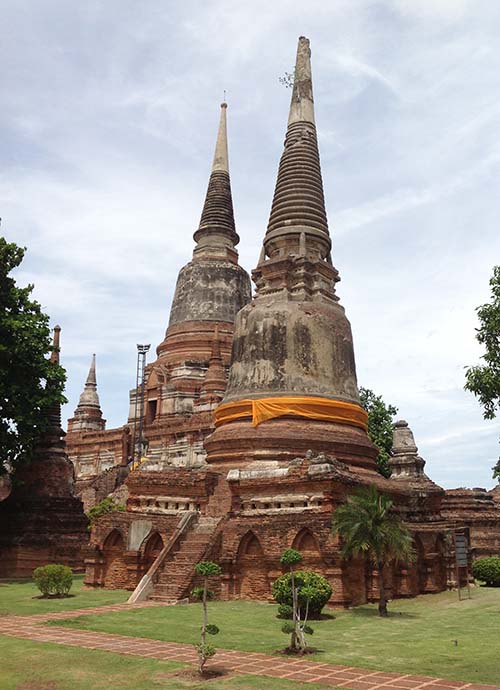
[{"label": "dark shaded brick ruin under the tree at far left", "polygon": [[[56,362],[60,330],[54,329]],[[34,568],[54,562],[83,568],[87,518],[74,494],[74,469],[64,448],[60,405],[46,414],[49,428],[32,461],[17,470],[10,494],[0,502],[0,577],[31,576]]]}]

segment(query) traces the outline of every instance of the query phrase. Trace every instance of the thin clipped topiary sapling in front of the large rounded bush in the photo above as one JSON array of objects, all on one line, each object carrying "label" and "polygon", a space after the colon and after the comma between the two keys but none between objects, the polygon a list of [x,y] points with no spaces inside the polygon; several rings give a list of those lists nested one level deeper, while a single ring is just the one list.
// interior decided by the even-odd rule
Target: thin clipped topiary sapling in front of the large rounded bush
[{"label": "thin clipped topiary sapling in front of the large rounded bush", "polygon": [[[310,601],[314,594],[312,587],[305,585],[295,566],[302,563],[303,556],[300,551],[295,549],[286,549],[280,558],[281,565],[288,568],[288,576],[290,578],[290,587],[292,594],[292,621],[284,623],[281,627],[281,632],[285,635],[290,635],[289,651],[294,654],[303,654],[307,649],[306,635],[312,635],[313,629],[307,625],[307,618],[309,615]],[[274,592],[274,588],[273,588]],[[300,597],[299,597],[300,592]],[[304,603],[304,617],[302,618],[300,603]],[[280,615],[287,613],[282,609]]]}]

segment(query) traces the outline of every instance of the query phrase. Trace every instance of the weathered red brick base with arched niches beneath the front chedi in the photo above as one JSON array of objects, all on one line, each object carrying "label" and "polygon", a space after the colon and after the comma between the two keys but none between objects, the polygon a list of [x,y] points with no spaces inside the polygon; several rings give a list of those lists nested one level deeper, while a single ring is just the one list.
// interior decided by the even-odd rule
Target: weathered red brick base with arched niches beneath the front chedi
[{"label": "weathered red brick base with arched niches beneath the front chedi", "polygon": [[[286,548],[293,547],[303,553],[304,568],[321,573],[330,581],[333,603],[352,605],[375,600],[376,571],[363,558],[343,561],[338,538],[331,532],[333,510],[353,488],[366,483],[367,477],[328,459],[320,467],[312,458],[281,470],[286,470],[286,474],[272,476],[261,471],[252,475],[243,471],[233,474],[230,481],[213,470],[193,472],[182,468],[163,473],[132,473],[127,481],[131,494],[129,512],[104,516],[94,528],[92,543],[99,552],[100,569],[89,567],[87,581],[116,587],[118,582],[123,583],[123,573],[128,568],[125,586],[132,588],[137,584],[147,570],[148,541],[158,534],[166,543],[182,515],[181,511],[161,515],[147,512],[147,508],[138,510],[141,496],[151,497],[149,510],[154,511],[155,496],[174,494],[184,496],[191,506],[197,505],[202,521],[206,516],[216,521],[218,518],[218,522],[213,533],[202,538],[197,536],[195,526],[190,529],[180,549],[164,564],[156,582],[156,596],[171,600],[174,594],[188,595],[192,586],[201,584],[193,576],[194,565],[198,560],[211,559],[223,568],[222,577],[212,583],[218,596],[269,599],[272,583],[282,573],[280,556]],[[370,478],[392,489],[414,533],[418,554],[417,562],[409,568],[387,568],[389,596],[444,589],[452,560],[442,537],[444,523],[431,519],[437,510],[436,496],[421,495],[416,503],[404,487],[395,486],[380,475]],[[282,502],[277,502],[278,498]],[[264,502],[267,500],[274,503]],[[121,560],[114,551],[109,555],[109,535],[118,530],[121,543],[126,545],[132,524],[137,521],[150,523],[144,543],[134,552],[122,547]]]}]

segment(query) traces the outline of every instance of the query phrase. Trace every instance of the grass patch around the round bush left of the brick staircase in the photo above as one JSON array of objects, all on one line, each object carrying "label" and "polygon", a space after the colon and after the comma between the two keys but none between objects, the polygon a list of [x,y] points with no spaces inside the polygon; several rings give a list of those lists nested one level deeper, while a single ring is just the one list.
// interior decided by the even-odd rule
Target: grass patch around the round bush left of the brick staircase
[{"label": "grass patch around the round bush left of the brick staircase", "polygon": [[[122,589],[84,589],[83,575],[73,578],[71,596],[64,599],[39,599],[40,591],[31,581],[0,582],[0,616],[20,616],[92,608],[127,601],[130,592]],[[1,687],[1,686],[0,686]]]}]

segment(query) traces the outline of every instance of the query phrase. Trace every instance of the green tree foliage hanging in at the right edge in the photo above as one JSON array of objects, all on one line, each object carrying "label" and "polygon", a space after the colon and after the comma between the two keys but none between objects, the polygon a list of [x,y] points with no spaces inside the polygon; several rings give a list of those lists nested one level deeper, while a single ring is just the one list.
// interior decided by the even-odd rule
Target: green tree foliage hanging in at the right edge
[{"label": "green tree foliage hanging in at the right edge", "polygon": [[[491,302],[476,309],[476,340],[486,350],[484,364],[467,367],[464,386],[478,398],[485,419],[494,419],[500,410],[500,266],[493,268],[490,288]],[[500,479],[500,458],[492,470],[493,478]]]}]

